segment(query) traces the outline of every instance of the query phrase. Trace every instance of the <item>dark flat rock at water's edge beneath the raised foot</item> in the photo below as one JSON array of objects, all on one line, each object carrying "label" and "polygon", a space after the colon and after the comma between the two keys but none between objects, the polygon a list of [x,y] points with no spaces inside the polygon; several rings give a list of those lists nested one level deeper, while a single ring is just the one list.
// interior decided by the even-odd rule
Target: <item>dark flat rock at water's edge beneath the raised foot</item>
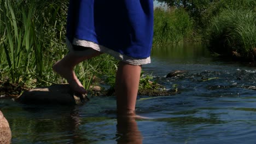
[{"label": "dark flat rock at water's edge beneath the raised foot", "polygon": [[15,100],[23,104],[78,105],[89,99],[86,94],[75,93],[69,84],[56,84],[30,89]]}]

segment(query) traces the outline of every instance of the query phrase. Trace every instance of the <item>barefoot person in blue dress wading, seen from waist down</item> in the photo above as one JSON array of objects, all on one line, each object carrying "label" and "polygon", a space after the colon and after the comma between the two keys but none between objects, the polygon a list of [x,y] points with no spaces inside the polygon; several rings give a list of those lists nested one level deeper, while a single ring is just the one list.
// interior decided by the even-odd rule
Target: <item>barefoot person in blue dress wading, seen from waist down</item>
[{"label": "barefoot person in blue dress wading, seen from waist down", "polygon": [[69,53],[53,65],[74,91],[86,93],[75,65],[101,53],[119,59],[115,94],[118,113],[134,113],[141,65],[150,63],[153,0],[71,0],[66,41]]}]

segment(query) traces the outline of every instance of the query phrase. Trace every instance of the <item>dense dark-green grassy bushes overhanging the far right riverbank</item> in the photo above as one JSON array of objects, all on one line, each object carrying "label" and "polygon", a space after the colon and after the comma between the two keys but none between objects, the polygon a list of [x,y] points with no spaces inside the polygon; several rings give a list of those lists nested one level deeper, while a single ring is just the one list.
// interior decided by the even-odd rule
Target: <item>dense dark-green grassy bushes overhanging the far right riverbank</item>
[{"label": "dense dark-green grassy bushes overhanging the far right riverbank", "polygon": [[[159,0],[159,2],[166,4],[170,9],[185,10],[193,20],[194,32],[202,35],[203,40],[210,42],[212,52],[231,55],[231,52],[235,51],[244,58],[253,58],[252,50],[256,43],[256,1]],[[167,17],[167,19],[171,18]],[[165,23],[168,20],[161,21]],[[168,31],[166,33],[172,33],[172,29]]]}]

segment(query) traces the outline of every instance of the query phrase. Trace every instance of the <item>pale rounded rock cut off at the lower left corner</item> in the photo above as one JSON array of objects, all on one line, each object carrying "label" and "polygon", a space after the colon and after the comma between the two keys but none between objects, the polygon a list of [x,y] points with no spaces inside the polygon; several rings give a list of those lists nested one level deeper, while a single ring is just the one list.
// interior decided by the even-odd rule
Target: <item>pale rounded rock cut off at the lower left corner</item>
[{"label": "pale rounded rock cut off at the lower left corner", "polygon": [[0,111],[0,144],[11,143],[11,130],[8,121]]}]

